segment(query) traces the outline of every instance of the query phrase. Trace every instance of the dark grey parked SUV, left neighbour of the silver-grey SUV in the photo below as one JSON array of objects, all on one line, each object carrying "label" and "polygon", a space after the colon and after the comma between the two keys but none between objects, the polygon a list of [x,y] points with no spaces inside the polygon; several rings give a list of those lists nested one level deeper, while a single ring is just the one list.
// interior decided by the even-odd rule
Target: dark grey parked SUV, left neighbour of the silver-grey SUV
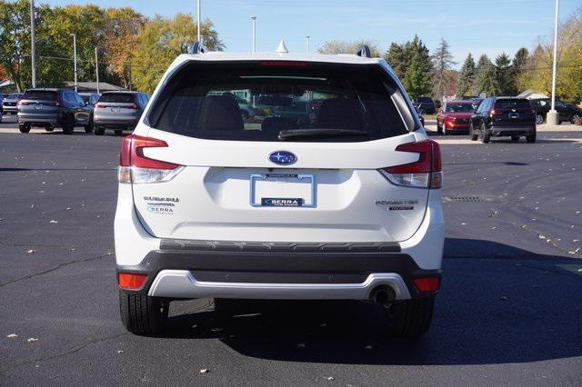
[{"label": "dark grey parked SUV, left neighbour of the silver-grey SUV", "polygon": [[91,132],[91,107],[79,94],[68,89],[28,89],[18,102],[18,129],[30,132],[32,126],[42,126],[48,132],[62,127],[72,134],[75,126]]}]

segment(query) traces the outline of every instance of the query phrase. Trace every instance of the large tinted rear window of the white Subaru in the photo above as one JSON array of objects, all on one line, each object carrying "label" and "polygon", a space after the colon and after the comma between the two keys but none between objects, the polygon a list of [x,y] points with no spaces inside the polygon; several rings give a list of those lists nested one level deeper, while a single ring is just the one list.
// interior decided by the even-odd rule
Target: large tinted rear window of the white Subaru
[{"label": "large tinted rear window of the white Subaru", "polygon": [[[359,142],[407,133],[403,116],[411,113],[395,101],[402,106],[402,94],[377,65],[189,64],[148,121],[204,139]],[[299,132],[280,135],[288,131]]]}]

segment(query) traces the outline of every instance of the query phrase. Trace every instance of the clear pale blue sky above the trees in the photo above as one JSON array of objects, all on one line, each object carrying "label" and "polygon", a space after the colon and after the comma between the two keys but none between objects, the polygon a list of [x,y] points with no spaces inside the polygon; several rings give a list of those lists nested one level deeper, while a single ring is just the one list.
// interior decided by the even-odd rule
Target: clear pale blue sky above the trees
[{"label": "clear pale blue sky above the trees", "polygon": [[[132,6],[147,16],[190,13],[196,0],[38,0],[49,5],[93,3],[104,7]],[[369,39],[382,53],[391,42],[404,43],[418,35],[431,52],[441,38],[462,65],[471,52],[490,58],[513,56],[521,46],[531,48],[551,39],[555,0],[201,0],[202,17],[215,24],[227,51],[249,51],[250,15],[256,15],[258,51],[275,51],[284,39],[290,52],[311,51],[330,40]],[[582,0],[561,0],[565,20]]]}]

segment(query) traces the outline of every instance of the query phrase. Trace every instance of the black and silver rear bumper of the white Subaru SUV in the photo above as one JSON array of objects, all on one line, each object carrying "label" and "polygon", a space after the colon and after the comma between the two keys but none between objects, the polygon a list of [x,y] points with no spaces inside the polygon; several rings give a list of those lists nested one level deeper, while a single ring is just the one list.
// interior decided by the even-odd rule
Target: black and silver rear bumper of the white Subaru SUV
[{"label": "black and silver rear bumper of the white Subaru SUV", "polygon": [[135,266],[117,272],[144,273],[139,293],[169,298],[366,300],[390,286],[397,300],[416,293],[422,270],[398,243],[245,243],[162,240]]}]

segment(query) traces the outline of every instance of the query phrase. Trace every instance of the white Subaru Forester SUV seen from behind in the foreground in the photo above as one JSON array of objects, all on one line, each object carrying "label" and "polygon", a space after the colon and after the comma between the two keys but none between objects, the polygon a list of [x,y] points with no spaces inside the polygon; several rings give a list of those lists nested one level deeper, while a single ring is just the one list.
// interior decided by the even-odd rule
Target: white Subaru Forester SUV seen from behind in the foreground
[{"label": "white Subaru Forester SUV seen from behind in the foreground", "polygon": [[382,59],[180,55],[125,137],[118,177],[130,332],[160,332],[170,301],[205,297],[371,301],[393,334],[428,329],[440,152]]}]

